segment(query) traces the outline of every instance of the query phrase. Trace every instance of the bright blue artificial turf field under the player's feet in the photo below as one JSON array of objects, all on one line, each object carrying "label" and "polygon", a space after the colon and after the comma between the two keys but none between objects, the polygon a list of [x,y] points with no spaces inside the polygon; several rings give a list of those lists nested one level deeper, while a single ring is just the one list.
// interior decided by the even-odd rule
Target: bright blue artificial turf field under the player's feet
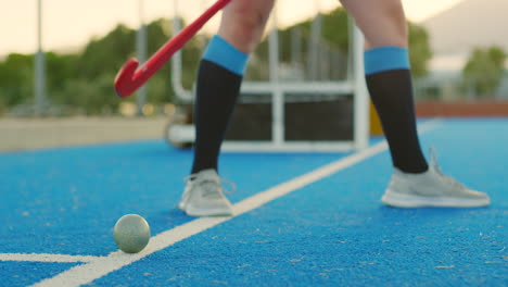
[{"label": "bright blue artificial turf field under the player's feet", "polygon": [[[91,286],[508,286],[508,118],[441,121],[421,140],[492,205],[383,207],[384,150],[139,258],[111,254],[122,215],[144,216],[152,235],[198,225],[176,209],[191,151],[161,140],[0,153],[0,286],[58,274]],[[348,155],[224,153],[220,173],[238,203]],[[127,263],[90,275],[115,255]]]}]

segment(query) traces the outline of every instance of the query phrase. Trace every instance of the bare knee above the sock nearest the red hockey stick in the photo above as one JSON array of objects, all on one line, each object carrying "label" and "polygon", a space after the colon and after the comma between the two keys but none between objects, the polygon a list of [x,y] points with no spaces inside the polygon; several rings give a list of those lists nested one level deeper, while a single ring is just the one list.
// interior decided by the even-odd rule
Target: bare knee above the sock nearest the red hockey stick
[{"label": "bare knee above the sock nearest the red hockey stick", "polygon": [[237,0],[223,14],[219,35],[239,50],[251,53],[259,43],[274,0]]}]

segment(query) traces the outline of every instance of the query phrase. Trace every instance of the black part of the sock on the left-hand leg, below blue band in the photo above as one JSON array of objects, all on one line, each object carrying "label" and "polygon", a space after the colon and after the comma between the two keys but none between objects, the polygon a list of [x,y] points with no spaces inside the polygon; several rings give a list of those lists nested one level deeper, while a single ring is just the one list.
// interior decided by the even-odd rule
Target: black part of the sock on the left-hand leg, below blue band
[{"label": "black part of the sock on the left-hand leg, below blue band", "polygon": [[194,123],[196,137],[191,173],[218,170],[218,155],[234,109],[242,76],[207,60],[198,73]]}]

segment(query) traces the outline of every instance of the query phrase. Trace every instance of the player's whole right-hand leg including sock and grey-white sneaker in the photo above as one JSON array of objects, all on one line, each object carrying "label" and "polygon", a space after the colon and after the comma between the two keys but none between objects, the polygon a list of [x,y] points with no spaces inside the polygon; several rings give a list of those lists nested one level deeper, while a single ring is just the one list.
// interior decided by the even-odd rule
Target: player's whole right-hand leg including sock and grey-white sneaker
[{"label": "player's whole right-hand leg including sock and grey-white sneaker", "polygon": [[482,207],[483,192],[467,189],[429,165],[416,127],[407,23],[401,0],[342,0],[366,38],[366,82],[395,167],[383,202],[396,207]]}]

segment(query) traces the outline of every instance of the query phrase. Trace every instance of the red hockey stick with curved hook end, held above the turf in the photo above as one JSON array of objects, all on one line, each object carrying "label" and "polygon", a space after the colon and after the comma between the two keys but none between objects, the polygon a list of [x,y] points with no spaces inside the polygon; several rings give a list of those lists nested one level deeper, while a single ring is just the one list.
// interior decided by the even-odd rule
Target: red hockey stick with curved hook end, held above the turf
[{"label": "red hockey stick with curved hook end, held above the turf", "polygon": [[138,68],[136,59],[128,60],[115,78],[116,93],[122,98],[129,97],[141,87],[155,72],[157,72],[175,52],[181,49],[218,11],[226,7],[231,0],[218,0],[203,15],[189,26],[183,28],[173,39],[167,41],[156,51],[142,66]]}]

